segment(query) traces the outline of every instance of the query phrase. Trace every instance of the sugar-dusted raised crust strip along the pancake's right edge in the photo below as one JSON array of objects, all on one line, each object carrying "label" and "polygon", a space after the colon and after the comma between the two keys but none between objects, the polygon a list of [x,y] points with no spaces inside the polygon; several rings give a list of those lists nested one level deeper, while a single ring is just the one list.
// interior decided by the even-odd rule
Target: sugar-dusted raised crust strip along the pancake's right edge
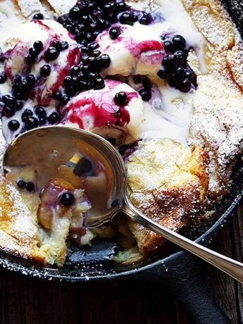
[{"label": "sugar-dusted raised crust strip along the pancake's right edge", "polygon": [[[193,99],[189,144],[208,152],[208,194],[216,198],[228,192],[232,165],[243,152],[242,41],[218,1],[182,2],[211,44],[206,49],[208,75],[198,77]],[[213,26],[210,33],[208,26]]]}]

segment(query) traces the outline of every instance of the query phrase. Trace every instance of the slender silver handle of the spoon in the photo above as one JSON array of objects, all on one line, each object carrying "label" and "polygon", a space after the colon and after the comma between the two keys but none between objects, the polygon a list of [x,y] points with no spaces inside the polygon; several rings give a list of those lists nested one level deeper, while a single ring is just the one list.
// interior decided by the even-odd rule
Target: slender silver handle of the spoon
[{"label": "slender silver handle of the spoon", "polygon": [[162,225],[154,222],[154,220],[151,220],[147,216],[144,216],[140,211],[138,211],[137,208],[135,208],[135,206],[131,204],[127,197],[125,197],[124,208],[127,216],[135,220],[135,222],[139,223],[140,225],[143,225],[144,228],[148,228],[156,234],[165,237],[170,242],[173,242],[179,247],[182,247],[192,254],[199,256],[199,258],[202,258],[204,261],[211,263],[211,265],[227,273],[232,278],[235,278],[235,280],[243,283],[243,263],[235,261],[232,258],[228,258],[227,256],[223,256],[216,251],[197,244],[196,242],[187,239],[177,232],[169,230],[168,228],[165,228]]}]

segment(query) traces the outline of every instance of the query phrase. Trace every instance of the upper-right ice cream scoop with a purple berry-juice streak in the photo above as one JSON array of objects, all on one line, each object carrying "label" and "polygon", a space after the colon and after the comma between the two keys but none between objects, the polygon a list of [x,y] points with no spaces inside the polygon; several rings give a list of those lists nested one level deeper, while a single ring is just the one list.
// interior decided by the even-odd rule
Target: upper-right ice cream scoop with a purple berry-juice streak
[{"label": "upper-right ice cream scoop with a purple berry-juice streak", "polygon": [[[159,24],[161,25],[161,24]],[[99,49],[111,57],[111,65],[102,73],[106,75],[156,75],[165,54],[161,34],[153,28],[135,25],[114,25],[120,30],[117,39],[111,39],[108,30],[96,39]]]}]

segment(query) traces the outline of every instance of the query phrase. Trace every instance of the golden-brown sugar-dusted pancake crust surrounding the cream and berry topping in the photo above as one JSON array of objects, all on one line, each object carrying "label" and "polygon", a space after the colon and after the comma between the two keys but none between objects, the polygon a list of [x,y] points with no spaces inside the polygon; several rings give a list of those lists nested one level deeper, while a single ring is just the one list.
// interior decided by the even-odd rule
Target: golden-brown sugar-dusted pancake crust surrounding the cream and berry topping
[{"label": "golden-brown sugar-dusted pancake crust surrounding the cream and berry topping", "polygon": [[[46,18],[61,15],[75,4],[75,0],[48,0],[46,4],[49,6],[43,6],[39,0],[13,2],[25,18],[37,12]],[[144,9],[153,10],[156,2],[144,0]],[[139,0],[127,3],[134,4],[135,8],[141,6]],[[191,149],[170,139],[152,140],[151,145],[144,141],[127,161],[132,202],[147,216],[173,230],[189,228],[196,220],[200,221],[208,197],[218,199],[227,194],[232,166],[243,152],[243,51],[239,33],[219,1],[182,0],[182,4],[208,42],[204,49],[208,73],[199,75],[193,99],[194,116],[189,135]],[[149,174],[150,170],[144,163],[151,163],[151,160],[146,154],[139,157],[141,152],[144,154],[153,146],[163,150],[170,166],[166,168],[158,159],[159,168],[166,170],[160,176]],[[173,157],[171,151],[175,153]],[[156,150],[154,152],[156,160]],[[144,179],[146,175],[150,180],[153,177],[161,180],[163,185],[157,184],[149,189],[147,179]],[[61,225],[61,241],[49,241],[40,247],[42,238],[37,230],[36,213],[27,208],[25,199],[4,177],[0,179],[0,198],[1,249],[41,264],[57,263],[61,266],[66,257],[68,218]],[[19,226],[20,223],[25,226]],[[129,237],[132,242],[127,225],[119,226],[124,237]],[[129,222],[129,227],[139,247],[137,256],[132,251],[132,261],[163,251],[166,242],[163,238],[132,222]],[[113,237],[115,234],[111,228],[104,228],[96,230],[95,235]]]}]

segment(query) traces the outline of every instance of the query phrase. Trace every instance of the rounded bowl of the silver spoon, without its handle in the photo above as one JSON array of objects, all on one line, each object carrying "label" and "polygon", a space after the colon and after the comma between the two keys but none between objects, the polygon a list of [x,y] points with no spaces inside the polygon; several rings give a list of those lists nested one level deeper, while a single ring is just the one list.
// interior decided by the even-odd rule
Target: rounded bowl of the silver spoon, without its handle
[{"label": "rounded bowl of the silver spoon, without its handle", "polygon": [[80,177],[92,208],[87,226],[97,227],[123,207],[125,166],[123,158],[106,139],[73,127],[48,126],[17,137],[3,158],[3,170],[33,166],[39,194],[54,177]]}]

